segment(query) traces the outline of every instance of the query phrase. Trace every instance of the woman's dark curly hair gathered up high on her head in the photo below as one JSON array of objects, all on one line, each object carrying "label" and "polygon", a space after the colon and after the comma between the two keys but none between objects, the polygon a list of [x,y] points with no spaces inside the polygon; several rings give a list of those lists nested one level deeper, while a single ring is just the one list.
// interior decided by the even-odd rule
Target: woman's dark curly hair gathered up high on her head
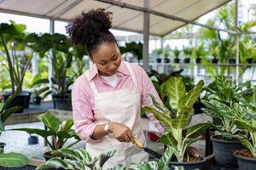
[{"label": "woman's dark curly hair gathered up high on her head", "polygon": [[67,34],[74,44],[87,48],[89,54],[102,42],[116,42],[109,31],[112,23],[112,12],[104,8],[91,9],[82,13],[66,26]]}]

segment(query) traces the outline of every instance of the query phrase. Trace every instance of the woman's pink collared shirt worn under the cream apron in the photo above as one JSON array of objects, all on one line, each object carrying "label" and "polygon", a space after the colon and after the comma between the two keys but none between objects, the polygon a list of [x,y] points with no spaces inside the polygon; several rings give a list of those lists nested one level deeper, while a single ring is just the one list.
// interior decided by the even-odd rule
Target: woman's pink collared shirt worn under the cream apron
[{"label": "woman's pink collared shirt worn under the cream apron", "polygon": [[[146,97],[147,94],[153,94],[155,98],[161,102],[159,95],[154,89],[153,83],[150,81],[143,68],[137,64],[131,64],[131,68],[135,72],[135,77],[137,78],[138,88],[141,94],[141,105],[153,105],[150,97]],[[123,61],[121,62],[121,65],[119,65],[119,69],[116,74],[118,76],[118,82],[116,87],[113,88],[108,84],[108,82],[106,82],[106,80],[99,76],[96,65],[93,65],[89,70],[89,81],[95,82],[99,93],[133,87],[130,73]],[[90,138],[94,132],[96,124],[94,123],[94,94],[90,88],[89,81],[85,74],[83,74],[73,84],[73,121],[75,131],[82,140],[85,142],[96,142],[96,140]],[[153,114],[147,113],[147,116],[161,133],[165,132],[165,128],[160,125],[160,122],[154,118]]]}]

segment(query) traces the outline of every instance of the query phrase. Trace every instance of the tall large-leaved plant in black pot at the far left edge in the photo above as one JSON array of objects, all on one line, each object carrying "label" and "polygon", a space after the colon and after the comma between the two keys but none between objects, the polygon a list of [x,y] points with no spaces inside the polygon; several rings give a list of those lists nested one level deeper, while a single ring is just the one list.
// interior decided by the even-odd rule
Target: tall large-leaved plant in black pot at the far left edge
[{"label": "tall large-leaved plant in black pot at the far left edge", "polygon": [[11,93],[3,94],[3,98],[8,99],[10,95],[15,94],[15,91],[20,91],[20,94],[7,105],[7,108],[15,105],[22,106],[17,112],[23,111],[26,98],[29,96],[22,92],[22,85],[33,56],[32,48],[30,48],[32,34],[26,35],[25,30],[26,26],[17,25],[14,21],[0,25],[0,44],[5,53],[5,67],[9,71],[11,82]]}]

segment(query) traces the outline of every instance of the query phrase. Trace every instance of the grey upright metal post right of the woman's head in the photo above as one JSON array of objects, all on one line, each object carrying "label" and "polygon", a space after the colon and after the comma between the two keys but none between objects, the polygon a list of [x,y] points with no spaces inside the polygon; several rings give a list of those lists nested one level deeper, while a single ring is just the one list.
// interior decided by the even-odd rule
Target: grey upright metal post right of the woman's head
[{"label": "grey upright metal post right of the woman's head", "polygon": [[[144,0],[144,8],[149,11],[150,0]],[[144,12],[144,25],[143,25],[143,68],[148,71],[148,43],[149,43],[149,13]]]}]

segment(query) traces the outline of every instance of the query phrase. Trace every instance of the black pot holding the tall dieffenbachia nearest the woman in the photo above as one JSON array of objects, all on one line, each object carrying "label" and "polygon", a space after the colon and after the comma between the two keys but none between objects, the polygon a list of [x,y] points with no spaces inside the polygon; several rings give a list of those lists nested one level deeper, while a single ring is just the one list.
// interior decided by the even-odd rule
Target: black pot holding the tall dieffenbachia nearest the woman
[{"label": "black pot holding the tall dieffenbachia nearest the woman", "polygon": [[183,170],[203,169],[206,161],[207,160],[205,158],[202,161],[190,161],[190,162],[170,161],[170,167],[174,169],[183,169]]}]

